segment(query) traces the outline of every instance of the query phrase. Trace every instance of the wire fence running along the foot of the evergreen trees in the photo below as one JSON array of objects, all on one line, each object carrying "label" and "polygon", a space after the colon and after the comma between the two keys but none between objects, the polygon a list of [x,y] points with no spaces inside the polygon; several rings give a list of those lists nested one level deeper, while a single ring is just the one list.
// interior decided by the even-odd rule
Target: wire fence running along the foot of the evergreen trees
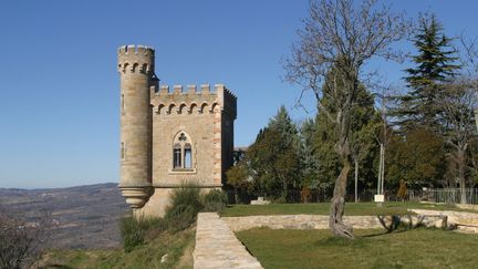
[{"label": "wire fence running along the foot of the evergreen trees", "polygon": [[[247,192],[233,192],[227,190],[228,200],[230,204],[250,204],[251,200],[258,198],[257,195],[249,194]],[[374,201],[374,195],[376,189],[363,189],[357,193],[358,201]],[[263,198],[277,203],[324,203],[332,199],[333,192],[331,189],[310,189],[288,190],[285,197],[281,194],[269,194],[264,195]],[[466,200],[465,204],[478,204],[478,188],[466,188],[464,197],[461,197],[461,190],[459,188],[440,188],[440,189],[420,189],[414,190],[408,189],[405,197],[398,197],[396,190],[385,190],[386,201],[399,201],[399,200],[413,200],[413,201],[433,201],[433,203],[445,203],[445,204],[461,204],[461,198]],[[345,196],[345,201],[355,201],[355,195],[349,193]]]}]

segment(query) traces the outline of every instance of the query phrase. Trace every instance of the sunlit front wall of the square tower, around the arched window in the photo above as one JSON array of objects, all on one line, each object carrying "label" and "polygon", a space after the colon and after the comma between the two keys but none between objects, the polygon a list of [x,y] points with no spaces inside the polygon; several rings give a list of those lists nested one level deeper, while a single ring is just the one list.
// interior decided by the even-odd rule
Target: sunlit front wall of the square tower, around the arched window
[{"label": "sunlit front wall of the square tower, around the arched window", "polygon": [[[153,187],[184,183],[220,186],[214,180],[217,148],[212,146],[215,120],[220,112],[218,108],[210,111],[217,103],[217,95],[176,93],[158,99],[165,106],[153,114]],[[193,170],[173,169],[173,139],[180,132],[189,136],[193,145]]]}]

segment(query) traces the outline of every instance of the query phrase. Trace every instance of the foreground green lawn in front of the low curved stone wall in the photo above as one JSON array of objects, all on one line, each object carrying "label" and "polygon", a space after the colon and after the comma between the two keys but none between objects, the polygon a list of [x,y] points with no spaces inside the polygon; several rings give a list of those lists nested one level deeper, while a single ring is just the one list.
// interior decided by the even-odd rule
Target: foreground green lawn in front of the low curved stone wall
[{"label": "foreground green lawn in front of the low curved stone wall", "polygon": [[239,231],[238,238],[267,268],[476,268],[478,236],[440,229],[384,234],[357,230],[357,238],[328,230]]}]

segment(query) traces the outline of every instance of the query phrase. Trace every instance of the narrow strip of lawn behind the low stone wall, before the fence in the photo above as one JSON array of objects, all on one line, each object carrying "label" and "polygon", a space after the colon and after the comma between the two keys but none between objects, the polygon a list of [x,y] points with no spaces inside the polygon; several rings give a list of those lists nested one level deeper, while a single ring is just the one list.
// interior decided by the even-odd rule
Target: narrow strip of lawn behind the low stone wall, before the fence
[{"label": "narrow strip of lawn behind the low stone wall, before the fence", "polygon": [[[260,215],[329,215],[330,203],[318,204],[270,204],[270,205],[231,205],[222,213],[222,217],[260,216]],[[375,215],[404,215],[408,208],[433,210],[459,210],[449,205],[430,205],[419,203],[384,203],[377,207],[375,203],[347,203],[345,215],[375,216]]]}]

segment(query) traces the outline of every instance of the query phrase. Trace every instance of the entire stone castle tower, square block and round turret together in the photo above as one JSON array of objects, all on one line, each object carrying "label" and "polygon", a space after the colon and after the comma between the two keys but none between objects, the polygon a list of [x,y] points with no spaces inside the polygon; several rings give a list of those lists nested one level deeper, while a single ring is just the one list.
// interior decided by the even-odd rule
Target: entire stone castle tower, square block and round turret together
[{"label": "entire stone castle tower, square block and round turret together", "polygon": [[225,85],[158,85],[154,50],[121,46],[121,182],[136,216],[163,216],[172,192],[221,188],[232,165],[237,97]]}]

